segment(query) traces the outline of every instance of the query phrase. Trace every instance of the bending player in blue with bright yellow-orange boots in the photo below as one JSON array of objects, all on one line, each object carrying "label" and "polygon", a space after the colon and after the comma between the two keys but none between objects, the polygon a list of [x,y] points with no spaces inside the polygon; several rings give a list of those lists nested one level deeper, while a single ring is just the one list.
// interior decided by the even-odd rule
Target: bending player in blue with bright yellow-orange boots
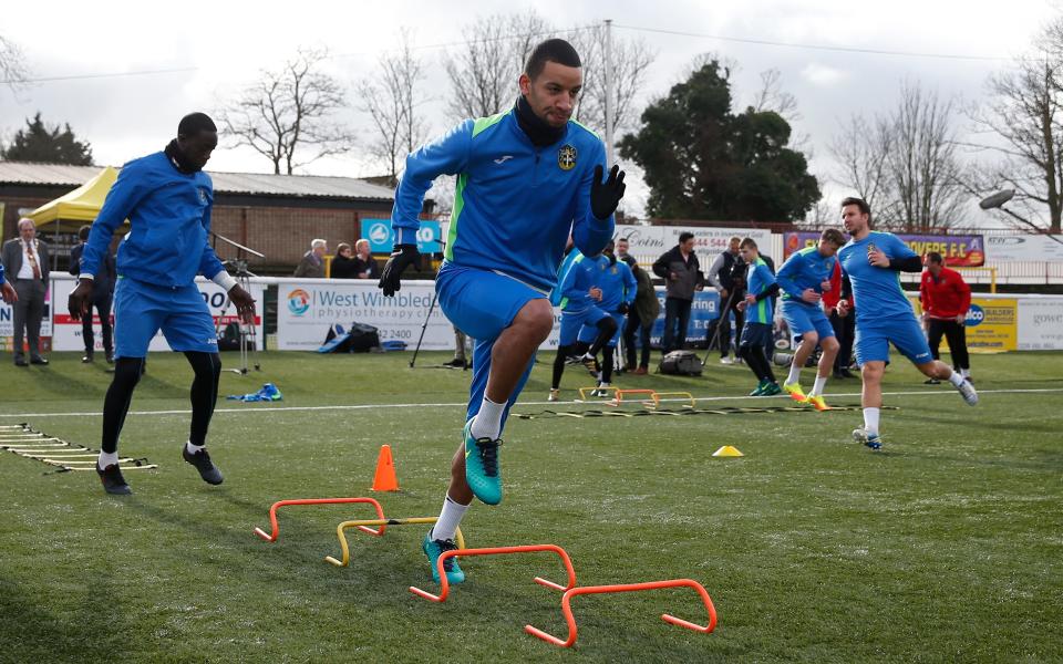
[{"label": "bending player in blue with bright yellow-orange boots", "polygon": [[[823,388],[834,370],[834,357],[838,354],[834,326],[819,300],[824,291],[830,290],[830,272],[837,260],[835,253],[844,243],[842,231],[828,228],[821,234],[815,247],[805,247],[792,253],[775,273],[778,288],[783,291],[783,319],[789,326],[794,342],[801,343],[794,353],[783,390],[798,403],[808,404],[817,411],[828,407],[823,401]],[[823,355],[819,356],[816,382],[805,395],[801,390],[801,370],[817,345],[823,349]]]}]

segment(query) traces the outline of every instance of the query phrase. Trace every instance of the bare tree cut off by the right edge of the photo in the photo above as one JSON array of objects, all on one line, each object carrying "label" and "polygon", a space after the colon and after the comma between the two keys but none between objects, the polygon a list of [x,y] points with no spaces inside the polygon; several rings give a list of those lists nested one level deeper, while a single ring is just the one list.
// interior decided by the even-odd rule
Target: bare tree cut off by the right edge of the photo
[{"label": "bare tree cut off by the right edge of the photo", "polygon": [[1063,219],[1063,18],[1043,30],[1038,46],[1036,53],[990,76],[990,102],[971,113],[977,129],[971,146],[998,158],[967,183],[979,196],[1014,189],[1009,209],[998,214],[1016,227],[1057,234]]}]

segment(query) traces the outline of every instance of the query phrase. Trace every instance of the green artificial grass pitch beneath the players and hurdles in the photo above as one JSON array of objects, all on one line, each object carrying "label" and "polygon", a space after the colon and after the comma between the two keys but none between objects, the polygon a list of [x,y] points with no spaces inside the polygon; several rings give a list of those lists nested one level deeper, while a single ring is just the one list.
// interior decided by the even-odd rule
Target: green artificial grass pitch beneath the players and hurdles
[{"label": "green artificial grass pitch beneath the players and hurdles", "polygon": [[[881,453],[849,443],[859,412],[512,418],[506,499],[469,510],[468,546],[560,544],[580,584],[689,577],[719,612],[706,636],[659,618],[703,621],[687,590],[578,598],[570,651],[523,632],[565,634],[557,593],[532,582],[563,577],[548,554],[465,559],[468,581],[437,605],[406,590],[434,588],[423,527],[351,531],[349,568],[322,559],[338,554],[337,522],[368,518],[364,507],[281,510],[279,541],[252,536],[275,500],[372,495],[384,443],[402,487],[376,495],[388,516],[437,513],[468,374],[426,366],[442,353],[423,369],[409,357],[269,353],[261,374],[226,374],[223,395],[271,381],[285,401],[219,403],[220,487],[180,459],[180,356],[152,356],[126,422],[121,452],[161,466],[126,473],[135,495],[0,453],[0,661],[1063,660],[1063,354],[976,355],[977,408],[895,363],[887,405],[899,409],[883,414]],[[4,359],[0,424],[97,447],[103,365],[51,359]],[[548,381],[540,363],[515,412],[546,409]],[[617,382],[734,397],[752,374]],[[590,384],[570,367],[563,386]],[[859,402],[858,381],[827,391]],[[713,458],[721,445],[746,456]]]}]

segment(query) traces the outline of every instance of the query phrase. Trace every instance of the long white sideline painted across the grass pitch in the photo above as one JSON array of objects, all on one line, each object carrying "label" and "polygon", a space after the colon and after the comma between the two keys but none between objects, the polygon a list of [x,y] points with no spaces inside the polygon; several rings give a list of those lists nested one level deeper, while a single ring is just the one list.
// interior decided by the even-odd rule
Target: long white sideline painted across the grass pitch
[{"label": "long white sideline painted across the grass pitch", "polygon": [[[1015,388],[1015,390],[980,390],[978,392],[979,396],[983,394],[1026,394],[1026,393],[1052,393],[1052,392],[1063,392],[1063,387],[1038,387],[1038,388]],[[938,396],[942,394],[954,394],[952,390],[917,390],[909,392],[884,392],[883,396]],[[859,392],[845,392],[845,393],[833,393],[827,394],[827,398],[836,397],[859,397]],[[755,400],[757,403],[764,403],[767,398],[776,400],[789,400],[789,395],[780,394],[777,396],[700,396],[694,397],[695,402],[723,402],[723,401],[749,401]],[[689,402],[689,398],[662,398],[662,402]],[[560,405],[571,405],[577,403],[575,401],[569,402],[519,402],[519,406],[560,406]],[[597,402],[584,402],[584,403],[597,403]],[[601,402],[605,403],[605,402]],[[260,413],[291,413],[291,412],[309,412],[309,411],[368,411],[371,408],[460,408],[465,407],[468,404],[466,402],[461,403],[448,403],[448,404],[352,404],[348,406],[249,406],[244,408],[217,408],[215,414],[260,414]],[[130,415],[187,415],[192,413],[190,409],[183,411],[130,411]],[[12,413],[4,414],[0,413],[0,418],[18,419],[18,418],[29,418],[29,417],[91,417],[102,416],[103,413],[99,411],[93,412],[82,412],[82,413]]]}]

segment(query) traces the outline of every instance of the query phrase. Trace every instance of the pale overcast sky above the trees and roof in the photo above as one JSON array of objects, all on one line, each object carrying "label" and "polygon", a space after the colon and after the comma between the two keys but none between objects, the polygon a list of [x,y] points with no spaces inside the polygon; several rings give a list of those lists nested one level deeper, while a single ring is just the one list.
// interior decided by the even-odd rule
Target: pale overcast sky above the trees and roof
[{"label": "pale overcast sky above the trees and roof", "polygon": [[[665,94],[700,53],[718,53],[739,64],[733,79],[739,108],[755,93],[760,72],[778,69],[784,90],[797,100],[801,120],[795,131],[811,137],[812,170],[824,180],[832,168],[826,145],[839,122],[853,113],[891,107],[905,80],[917,80],[942,96],[977,102],[987,76],[1023,53],[1039,27],[1060,12],[1054,0],[305,0],[162,7],[143,0],[4,3],[0,34],[24,51],[34,79],[82,77],[41,81],[17,94],[0,87],[3,136],[10,138],[27,116],[40,111],[45,122],[69,122],[80,138],[90,141],[97,164],[118,165],[161,149],[183,114],[217,108],[254,81],[258,70],[282,63],[299,45],[328,48],[333,54],[330,73],[353,86],[372,75],[376,58],[393,46],[401,28],[413,30],[417,55],[425,62],[424,91],[436,100],[427,107],[427,120],[433,134],[440,133],[450,124],[443,111],[447,82],[441,64],[444,48],[434,44],[461,41],[463,24],[479,15],[534,8],[558,28],[612,19],[617,38],[644,40],[657,59],[641,91],[642,103]],[[969,58],[856,53],[713,37]],[[185,71],[100,76],[156,70]],[[347,120],[368,131],[364,115],[354,107]],[[271,164],[246,148],[219,149],[209,168],[270,172]],[[355,153],[303,172],[357,177],[380,168]],[[824,188],[830,196],[840,194],[836,187]],[[629,191],[628,207],[639,214],[644,190],[636,186]]]}]

